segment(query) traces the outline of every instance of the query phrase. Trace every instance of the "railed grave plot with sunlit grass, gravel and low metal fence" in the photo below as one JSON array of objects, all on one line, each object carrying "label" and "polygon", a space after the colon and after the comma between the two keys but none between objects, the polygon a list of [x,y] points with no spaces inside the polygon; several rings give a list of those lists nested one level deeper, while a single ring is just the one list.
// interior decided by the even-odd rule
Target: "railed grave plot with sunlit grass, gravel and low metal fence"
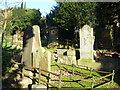
[{"label": "railed grave plot with sunlit grass, gravel and low metal fence", "polygon": [[[51,83],[60,88],[100,88],[114,86],[113,72],[94,71],[79,68],[72,65],[55,64],[52,65],[52,72],[60,75],[51,75]],[[101,73],[103,76],[101,76]],[[109,78],[107,78],[109,77]]]}]

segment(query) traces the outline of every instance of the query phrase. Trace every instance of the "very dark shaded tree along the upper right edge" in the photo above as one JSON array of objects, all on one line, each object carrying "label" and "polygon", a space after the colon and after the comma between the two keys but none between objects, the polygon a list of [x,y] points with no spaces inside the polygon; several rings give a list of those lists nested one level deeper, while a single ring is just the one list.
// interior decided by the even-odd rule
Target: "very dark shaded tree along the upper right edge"
[{"label": "very dark shaded tree along the upper right edge", "polygon": [[118,51],[120,47],[120,2],[98,3],[96,16],[98,25],[109,30],[112,48]]}]

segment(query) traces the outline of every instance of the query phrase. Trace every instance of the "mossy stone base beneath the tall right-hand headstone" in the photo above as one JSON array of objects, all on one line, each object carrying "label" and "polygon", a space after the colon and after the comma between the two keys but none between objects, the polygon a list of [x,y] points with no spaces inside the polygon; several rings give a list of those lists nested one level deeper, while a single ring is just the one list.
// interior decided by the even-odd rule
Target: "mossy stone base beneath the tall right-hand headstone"
[{"label": "mossy stone base beneath the tall right-hand headstone", "polygon": [[95,62],[94,60],[88,60],[88,59],[79,59],[78,65],[83,68],[88,67],[89,69],[92,68],[94,70],[99,70],[101,68],[101,63]]}]

